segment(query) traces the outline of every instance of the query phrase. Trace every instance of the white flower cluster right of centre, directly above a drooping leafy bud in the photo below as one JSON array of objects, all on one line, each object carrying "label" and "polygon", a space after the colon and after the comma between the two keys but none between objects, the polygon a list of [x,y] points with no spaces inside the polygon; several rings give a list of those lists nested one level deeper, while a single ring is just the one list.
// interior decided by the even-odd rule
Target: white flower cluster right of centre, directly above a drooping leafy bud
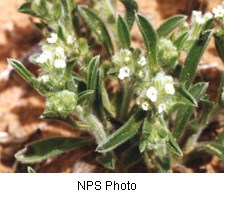
[{"label": "white flower cluster right of centre, directly above a drooping leafy bud", "polygon": [[150,83],[143,83],[137,93],[139,95],[137,105],[145,111],[155,110],[158,114],[162,114],[168,111],[173,103],[175,94],[173,78],[160,72]]}]

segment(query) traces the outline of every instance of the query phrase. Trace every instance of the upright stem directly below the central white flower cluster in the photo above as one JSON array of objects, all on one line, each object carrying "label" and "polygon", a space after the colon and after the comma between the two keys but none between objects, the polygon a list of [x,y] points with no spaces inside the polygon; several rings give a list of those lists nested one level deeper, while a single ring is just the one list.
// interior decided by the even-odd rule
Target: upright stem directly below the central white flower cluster
[{"label": "upright stem directly below the central white flower cluster", "polygon": [[120,107],[121,108],[120,112],[118,114],[118,118],[119,118],[119,120],[124,121],[127,117],[127,113],[128,113],[129,106],[130,106],[130,101],[133,96],[133,88],[129,87],[127,85],[127,83],[123,83],[122,90],[123,90],[123,100],[122,100],[122,104]]}]

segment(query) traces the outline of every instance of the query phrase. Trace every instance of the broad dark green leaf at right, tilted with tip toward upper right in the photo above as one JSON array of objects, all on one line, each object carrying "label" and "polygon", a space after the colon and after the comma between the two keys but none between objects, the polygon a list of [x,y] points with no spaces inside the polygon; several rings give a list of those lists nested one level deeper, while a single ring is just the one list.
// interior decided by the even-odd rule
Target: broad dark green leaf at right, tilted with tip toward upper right
[{"label": "broad dark green leaf at right, tilted with tip toward upper right", "polygon": [[180,74],[180,81],[185,83],[186,87],[190,87],[192,81],[195,78],[197,66],[199,61],[204,53],[209,40],[212,36],[212,31],[206,31],[202,33],[199,39],[195,42],[195,44],[191,47],[185,62],[184,68]]}]

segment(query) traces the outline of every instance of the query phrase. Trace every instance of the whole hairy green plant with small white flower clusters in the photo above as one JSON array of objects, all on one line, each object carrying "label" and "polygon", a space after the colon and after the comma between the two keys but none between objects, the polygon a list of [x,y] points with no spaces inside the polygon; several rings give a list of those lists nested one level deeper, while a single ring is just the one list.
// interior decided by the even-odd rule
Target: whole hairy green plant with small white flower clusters
[{"label": "whole hairy green plant with small white flower clusters", "polygon": [[[190,24],[176,15],[155,29],[135,1],[121,2],[125,16],[113,0],[92,0],[88,6],[28,0],[20,6],[20,12],[41,19],[37,26],[46,39],[42,52],[32,56],[41,73],[35,77],[14,59],[9,64],[46,98],[43,119],[64,121],[91,136],[36,141],[16,154],[18,161],[40,162],[84,145],[97,145],[97,161],[117,172],[137,163],[171,172],[206,153],[223,161],[223,133],[199,141],[223,110],[223,79],[216,102],[206,94],[208,83],[194,81],[212,36],[223,59],[223,5],[214,15],[193,11]],[[135,22],[144,49],[132,47]],[[118,82],[116,92],[107,89],[111,80]]]}]

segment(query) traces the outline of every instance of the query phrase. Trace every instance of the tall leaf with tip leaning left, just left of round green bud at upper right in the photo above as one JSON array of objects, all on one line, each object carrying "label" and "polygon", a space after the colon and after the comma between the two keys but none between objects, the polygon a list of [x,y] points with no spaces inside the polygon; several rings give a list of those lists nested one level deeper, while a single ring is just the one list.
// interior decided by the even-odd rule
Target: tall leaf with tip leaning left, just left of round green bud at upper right
[{"label": "tall leaf with tip leaning left, just left of round green bud at upper right", "polygon": [[139,29],[144,38],[145,46],[148,54],[148,61],[151,71],[158,71],[157,63],[157,34],[149,21],[142,15],[136,14],[136,20]]}]

